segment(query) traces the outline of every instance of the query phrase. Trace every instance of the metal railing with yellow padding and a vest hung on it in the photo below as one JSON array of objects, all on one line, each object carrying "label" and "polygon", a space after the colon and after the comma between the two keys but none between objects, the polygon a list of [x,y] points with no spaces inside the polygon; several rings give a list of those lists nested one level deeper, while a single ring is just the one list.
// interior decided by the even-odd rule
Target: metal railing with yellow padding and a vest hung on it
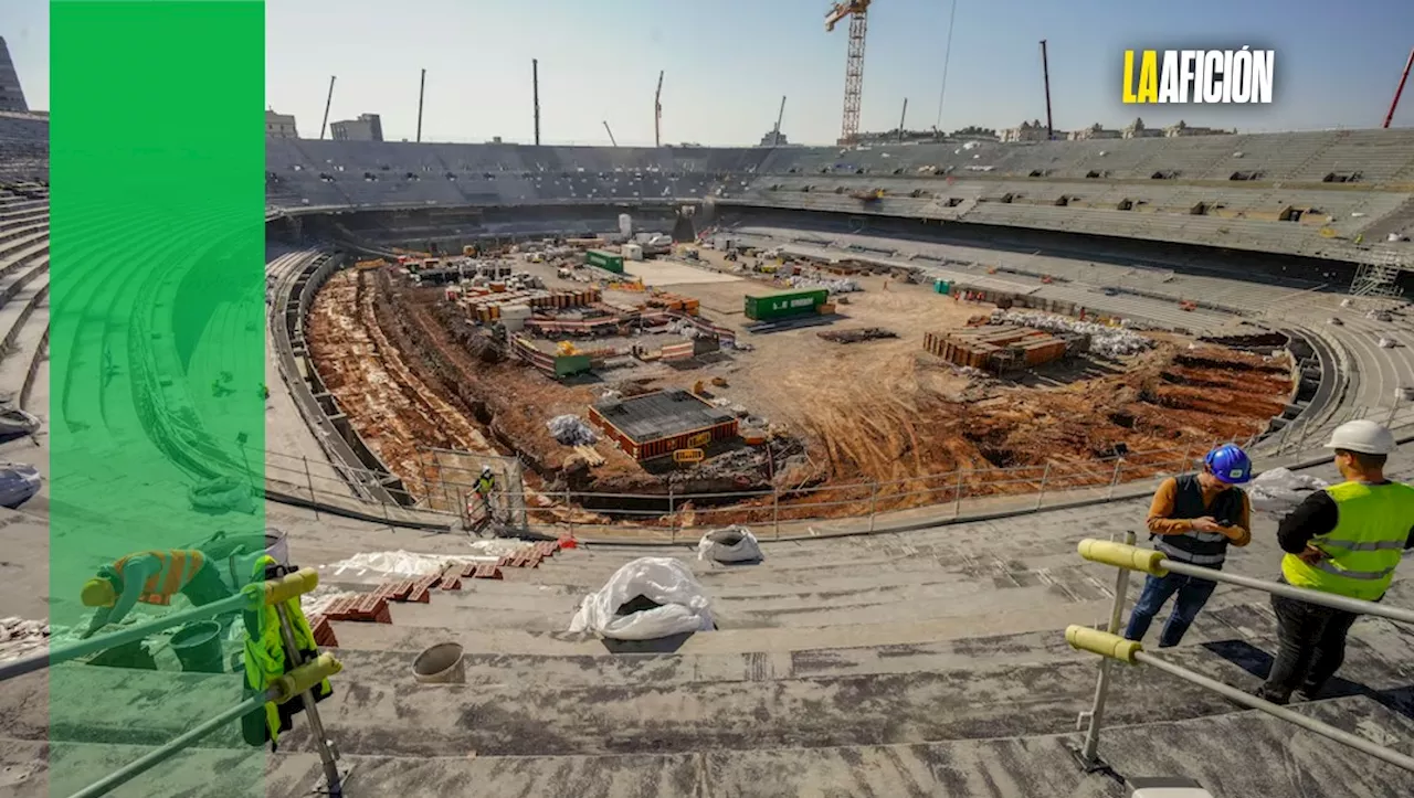
[{"label": "metal railing with yellow padding and a vest hung on it", "polygon": [[304,661],[300,647],[296,644],[294,629],[290,626],[290,616],[284,609],[284,602],[314,590],[318,583],[320,576],[311,568],[287,573],[280,579],[253,582],[243,586],[235,596],[229,596],[209,605],[175,612],[146,623],[133,624],[129,629],[122,629],[102,637],[90,637],[88,640],[81,640],[45,653],[31,654],[20,660],[11,660],[0,664],[0,682],[24,674],[31,674],[51,665],[78,660],[79,657],[115,648],[117,645],[136,643],[148,634],[194,620],[205,620],[230,612],[252,610],[266,606],[274,607],[276,617],[280,621],[280,636],[284,641],[286,654],[291,658],[291,668],[288,668],[284,675],[277,678],[264,689],[264,692],[252,695],[240,703],[222,710],[187,732],[182,732],[180,736],[153,749],[141,758],[137,758],[79,790],[71,798],[98,798],[99,795],[106,795],[143,773],[192,747],[197,742],[222,726],[239,720],[252,712],[260,710],[266,703],[286,703],[296,698],[304,703],[304,712],[310,722],[311,739],[315,742],[315,747],[320,753],[320,761],[324,766],[324,791],[331,798],[339,798],[342,795],[342,778],[338,767],[338,751],[324,733],[324,725],[320,720],[320,712],[315,708],[311,691],[324,679],[342,671],[344,665],[334,658],[332,654],[318,654],[311,661]]}]

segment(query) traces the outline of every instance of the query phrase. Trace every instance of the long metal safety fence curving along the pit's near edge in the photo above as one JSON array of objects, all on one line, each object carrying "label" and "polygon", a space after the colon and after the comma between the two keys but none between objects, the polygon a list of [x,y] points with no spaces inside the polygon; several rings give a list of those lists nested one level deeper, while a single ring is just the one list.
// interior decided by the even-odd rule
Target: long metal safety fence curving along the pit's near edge
[{"label": "long metal safety fence curving along the pit's near edge", "polygon": [[[1253,449],[1258,470],[1285,465],[1308,446],[1324,443],[1316,432],[1357,417],[1373,417],[1394,427],[1414,424],[1414,403],[1396,408],[1352,408],[1326,418],[1314,428],[1282,438],[1267,436]],[[1042,510],[1082,500],[1106,500],[1141,490],[1158,479],[1195,468],[1210,448],[1227,441],[1215,439],[1182,448],[1124,452],[1089,460],[1048,459],[1039,465],[957,469],[894,480],[858,480],[812,483],[775,489],[727,492],[690,492],[682,486],[711,472],[707,465],[680,465],[662,476],[662,490],[636,493],[577,492],[537,489],[522,479],[515,458],[455,452],[419,451],[416,473],[402,473],[402,487],[390,489],[399,507],[471,525],[477,520],[475,482],[482,465],[492,465],[498,480],[498,500],[505,504],[505,523],[515,528],[537,528],[553,534],[602,535],[676,541],[697,537],[700,530],[744,524],[758,537],[782,537],[834,531],[874,531],[912,520],[962,517],[964,511]],[[1256,438],[1232,441],[1251,446]],[[1299,442],[1299,445],[1297,443]],[[566,449],[571,452],[571,449]],[[247,462],[263,477],[301,489],[312,501],[348,503],[348,480],[375,480],[373,472],[352,473],[328,463],[294,458],[280,452],[250,452]],[[766,466],[758,475],[768,483]],[[468,510],[471,506],[471,510]],[[390,523],[396,516],[375,504],[368,516],[383,514]],[[699,530],[699,531],[694,531]]]}]

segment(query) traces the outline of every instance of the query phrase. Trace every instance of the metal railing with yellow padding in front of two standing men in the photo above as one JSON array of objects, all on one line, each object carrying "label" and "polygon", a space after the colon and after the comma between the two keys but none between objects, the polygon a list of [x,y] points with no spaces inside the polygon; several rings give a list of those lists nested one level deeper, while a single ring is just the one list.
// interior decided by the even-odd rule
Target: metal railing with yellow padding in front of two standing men
[{"label": "metal railing with yellow padding in front of two standing men", "polygon": [[1264,593],[1273,593],[1287,599],[1321,605],[1348,613],[1383,617],[1386,620],[1411,626],[1414,626],[1414,610],[1391,607],[1374,602],[1363,602],[1333,593],[1322,593],[1319,590],[1309,590],[1280,582],[1253,579],[1251,576],[1240,576],[1237,573],[1226,573],[1186,562],[1176,562],[1168,559],[1159,551],[1138,548],[1133,545],[1133,542],[1134,532],[1126,532],[1124,542],[1086,538],[1080,541],[1079,545],[1080,556],[1085,559],[1099,562],[1102,565],[1111,565],[1120,572],[1116,582],[1114,605],[1110,610],[1110,620],[1106,630],[1102,631],[1087,626],[1070,626],[1065,630],[1066,643],[1069,643],[1073,648],[1100,655],[1100,674],[1096,684],[1094,702],[1092,703],[1089,712],[1080,715],[1080,720],[1089,720],[1085,743],[1075,751],[1076,758],[1087,773],[1109,768],[1109,766],[1099,757],[1097,750],[1100,726],[1104,722],[1104,702],[1109,693],[1110,667],[1111,662],[1116,661],[1130,665],[1147,665],[1164,671],[1165,674],[1184,679],[1189,684],[1216,692],[1234,703],[1271,715],[1273,717],[1285,720],[1308,732],[1321,734],[1322,737],[1335,740],[1336,743],[1349,746],[1398,768],[1414,773],[1414,757],[1401,754],[1400,751],[1380,746],[1357,734],[1336,729],[1328,723],[1307,717],[1305,715],[1243,692],[1232,685],[1226,685],[1182,665],[1175,665],[1174,662],[1145,651],[1143,643],[1137,640],[1126,640],[1118,634],[1120,617],[1124,610],[1126,593],[1128,592],[1130,571],[1138,571],[1152,576],[1182,573],[1186,576],[1196,576],[1199,579],[1225,582],[1239,588],[1250,588],[1253,590],[1261,590]]}]

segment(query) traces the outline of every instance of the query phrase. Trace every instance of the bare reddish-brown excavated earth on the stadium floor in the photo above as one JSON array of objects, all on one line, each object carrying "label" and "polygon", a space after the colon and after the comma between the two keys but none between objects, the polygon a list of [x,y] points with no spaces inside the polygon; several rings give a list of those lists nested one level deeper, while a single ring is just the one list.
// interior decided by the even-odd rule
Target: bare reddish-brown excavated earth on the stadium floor
[{"label": "bare reddish-brown excavated earth on the stadium floor", "polygon": [[[922,352],[919,340],[988,306],[954,304],[922,287],[861,282],[867,291],[851,297],[848,326],[884,326],[898,339],[839,346],[812,329],[754,336],[755,352],[645,386],[687,387],[723,376],[724,395],[803,443],[782,446],[775,468],[742,459],[735,475],[725,463],[699,470],[686,490],[773,482],[792,492],[779,507],[786,520],[952,501],[959,483],[964,497],[1029,493],[1042,482],[1102,486],[1114,477],[1117,456],[1124,458],[1121,479],[1131,480],[1182,468],[1185,452],[1196,456],[1215,439],[1246,439],[1290,394],[1284,359],[1215,345],[1191,349],[1175,336],[1157,336],[1155,349],[1123,363],[1044,367],[1025,384],[966,377]],[[682,291],[701,295],[711,309],[754,290]],[[437,290],[400,285],[383,271],[341,273],[315,298],[311,343],[355,428],[414,492],[438,476],[419,446],[518,453],[532,469],[533,489],[666,492],[659,476],[609,445],[597,446],[605,462],[590,470],[550,436],[549,418],[583,418],[607,384],[557,384],[502,360]],[[691,506],[677,508],[677,521],[690,521]],[[740,514],[714,511],[711,523],[761,521],[762,513],[747,503]]]}]

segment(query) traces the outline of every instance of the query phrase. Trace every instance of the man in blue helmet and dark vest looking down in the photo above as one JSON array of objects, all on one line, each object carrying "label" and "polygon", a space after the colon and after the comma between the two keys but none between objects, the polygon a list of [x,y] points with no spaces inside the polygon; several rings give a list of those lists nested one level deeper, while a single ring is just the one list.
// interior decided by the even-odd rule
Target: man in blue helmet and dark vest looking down
[{"label": "man in blue helmet and dark vest looking down", "polygon": [[[1251,460],[1232,443],[1203,458],[1203,470],[1165,479],[1150,503],[1148,531],[1154,548],[1175,562],[1222,569],[1227,547],[1251,542],[1251,504],[1239,484],[1251,479]],[[1148,576],[1124,637],[1144,640],[1154,616],[1178,593],[1158,647],[1178,645],[1213,595],[1217,583],[1182,573]]]}]

